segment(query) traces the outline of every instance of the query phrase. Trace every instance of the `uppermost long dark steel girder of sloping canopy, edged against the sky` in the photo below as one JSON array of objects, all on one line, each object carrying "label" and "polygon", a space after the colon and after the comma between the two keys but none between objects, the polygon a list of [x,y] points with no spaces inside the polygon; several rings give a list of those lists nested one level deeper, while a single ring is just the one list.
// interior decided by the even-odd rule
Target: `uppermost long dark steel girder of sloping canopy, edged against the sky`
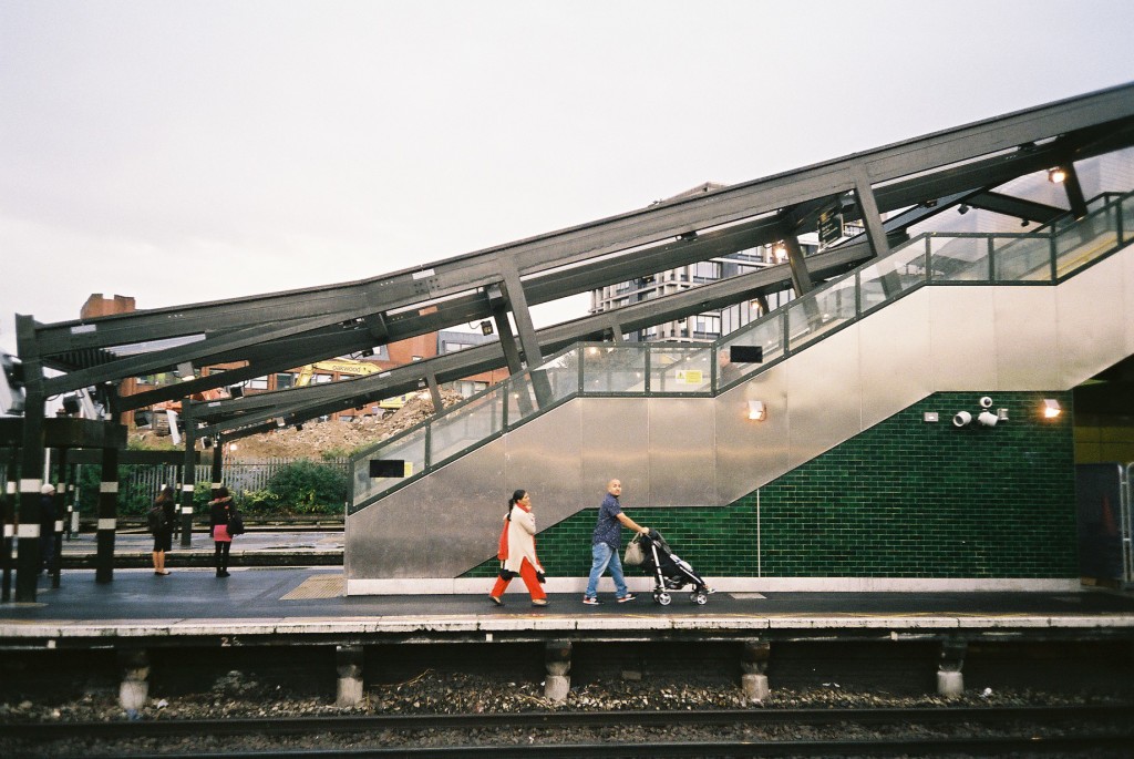
[{"label": "uppermost long dark steel girder of sloping canopy, edged against the sky", "polygon": [[[86,323],[44,326],[39,330],[41,355],[50,355],[57,347],[79,349],[130,344],[137,340],[138,335],[145,335],[145,339],[161,339],[209,334],[217,329],[239,329],[263,323],[265,309],[270,310],[273,321],[279,321],[318,318],[348,310],[344,301],[365,303],[370,307],[362,310],[371,312],[406,307],[423,300],[451,296],[499,281],[497,258],[500,255],[511,258],[519,275],[527,277],[627,247],[776,211],[829,195],[832,191],[849,191],[858,170],[865,171],[870,180],[879,185],[1052,135],[1066,135],[1075,129],[1131,117],[1134,117],[1134,85],[1114,87],[383,277],[218,303],[156,309]],[[882,192],[877,192],[879,204],[885,208]],[[94,329],[90,329],[92,326]],[[75,327],[86,329],[76,332]],[[61,340],[58,346],[57,340]]]}]

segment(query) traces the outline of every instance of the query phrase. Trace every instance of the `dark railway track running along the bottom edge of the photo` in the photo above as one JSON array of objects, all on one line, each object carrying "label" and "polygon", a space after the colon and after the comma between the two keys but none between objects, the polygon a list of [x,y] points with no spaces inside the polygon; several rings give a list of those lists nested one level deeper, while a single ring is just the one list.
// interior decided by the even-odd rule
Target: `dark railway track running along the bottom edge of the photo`
[{"label": "dark railway track running along the bottom edge of the photo", "polygon": [[[160,747],[160,750],[158,750]],[[181,747],[178,751],[177,747]],[[1134,703],[34,723],[7,757],[1129,756]]]}]

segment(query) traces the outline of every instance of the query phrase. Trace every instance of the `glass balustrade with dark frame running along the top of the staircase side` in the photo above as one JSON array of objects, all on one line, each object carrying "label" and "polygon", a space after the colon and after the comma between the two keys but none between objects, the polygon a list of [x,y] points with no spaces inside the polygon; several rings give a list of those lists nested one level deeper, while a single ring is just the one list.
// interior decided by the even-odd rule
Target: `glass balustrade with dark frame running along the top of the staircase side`
[{"label": "glass balustrade with dark frame running along the top of the staircase side", "polygon": [[[1090,208],[1083,219],[1061,217],[1032,233],[926,233],[714,344],[581,343],[361,453],[354,509],[581,395],[711,396],[928,284],[1065,277],[1132,237],[1134,193],[1102,196]],[[734,346],[760,347],[762,361],[733,363]],[[404,461],[404,474],[371,478],[375,458]]]}]

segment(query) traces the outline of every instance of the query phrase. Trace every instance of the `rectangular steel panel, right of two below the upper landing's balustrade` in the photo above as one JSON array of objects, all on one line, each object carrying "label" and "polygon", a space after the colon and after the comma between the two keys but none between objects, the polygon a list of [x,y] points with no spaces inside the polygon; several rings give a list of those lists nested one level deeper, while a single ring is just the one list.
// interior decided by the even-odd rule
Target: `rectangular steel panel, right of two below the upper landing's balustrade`
[{"label": "rectangular steel panel, right of two below the upper landing's balustrade", "polygon": [[1059,386],[1055,287],[996,287],[997,388]]}]

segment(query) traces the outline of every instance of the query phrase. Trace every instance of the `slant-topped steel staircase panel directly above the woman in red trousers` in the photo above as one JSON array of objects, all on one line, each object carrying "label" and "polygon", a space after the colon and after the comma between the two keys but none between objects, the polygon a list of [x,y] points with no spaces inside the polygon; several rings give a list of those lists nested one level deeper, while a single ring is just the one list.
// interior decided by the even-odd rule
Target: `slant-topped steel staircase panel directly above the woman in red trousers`
[{"label": "slant-topped steel staircase panel directly above the woman in red trousers", "polygon": [[507,482],[496,497],[501,515],[516,488],[532,491],[540,530],[594,500],[593,492],[583,492],[582,429],[581,405],[568,403],[508,433]]}]

